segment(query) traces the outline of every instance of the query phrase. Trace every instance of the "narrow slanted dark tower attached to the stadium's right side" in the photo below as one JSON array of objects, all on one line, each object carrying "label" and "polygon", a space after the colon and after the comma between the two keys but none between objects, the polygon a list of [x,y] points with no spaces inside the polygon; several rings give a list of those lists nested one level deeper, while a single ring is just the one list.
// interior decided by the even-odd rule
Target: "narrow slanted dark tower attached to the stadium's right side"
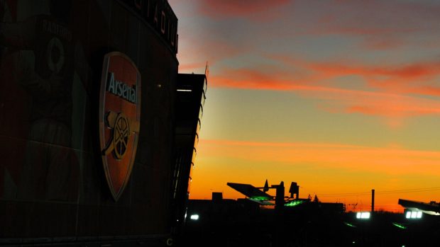
[{"label": "narrow slanted dark tower attached to the stadium's right side", "polygon": [[207,77],[203,74],[179,74],[176,91],[172,202],[176,210],[174,214],[176,231],[180,233],[183,224],[185,224],[189,188],[197,156],[199,131],[206,99]]}]

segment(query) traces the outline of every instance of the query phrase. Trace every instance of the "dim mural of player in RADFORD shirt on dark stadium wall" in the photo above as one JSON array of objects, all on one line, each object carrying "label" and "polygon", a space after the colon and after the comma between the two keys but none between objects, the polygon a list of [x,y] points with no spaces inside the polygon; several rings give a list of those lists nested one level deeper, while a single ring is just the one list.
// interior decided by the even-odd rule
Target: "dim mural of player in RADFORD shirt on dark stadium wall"
[{"label": "dim mural of player in RADFORD shirt on dark stadium wall", "polygon": [[[71,1],[0,1],[3,197],[71,201],[75,35]],[[26,141],[23,141],[26,140]],[[0,173],[0,175],[1,175]]]}]

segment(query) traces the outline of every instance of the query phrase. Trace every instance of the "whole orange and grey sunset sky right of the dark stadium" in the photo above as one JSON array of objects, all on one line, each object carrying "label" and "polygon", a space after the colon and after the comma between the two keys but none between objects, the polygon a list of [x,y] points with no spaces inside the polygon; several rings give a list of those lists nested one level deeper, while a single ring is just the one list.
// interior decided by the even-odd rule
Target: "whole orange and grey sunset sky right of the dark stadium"
[{"label": "whole orange and grey sunset sky right of the dark stadium", "polygon": [[268,179],[347,209],[440,201],[438,1],[169,2],[180,73],[209,62],[190,198]]}]

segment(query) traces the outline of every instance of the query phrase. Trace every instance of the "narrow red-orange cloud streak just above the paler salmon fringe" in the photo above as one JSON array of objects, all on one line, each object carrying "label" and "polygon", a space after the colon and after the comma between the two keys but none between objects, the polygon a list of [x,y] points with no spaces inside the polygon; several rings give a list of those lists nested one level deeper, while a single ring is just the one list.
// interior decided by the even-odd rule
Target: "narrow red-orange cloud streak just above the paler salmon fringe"
[{"label": "narrow red-orange cloud streak just above the paler salmon fringe", "polygon": [[440,96],[440,86],[436,86],[436,79],[440,76],[440,61],[369,65],[338,61],[309,62],[286,56],[270,57],[280,62],[280,66],[257,65],[240,69],[223,67],[216,72],[211,82],[214,86],[232,88],[344,91],[342,88],[328,86],[327,82],[344,76],[358,76],[368,82],[368,91]]}]

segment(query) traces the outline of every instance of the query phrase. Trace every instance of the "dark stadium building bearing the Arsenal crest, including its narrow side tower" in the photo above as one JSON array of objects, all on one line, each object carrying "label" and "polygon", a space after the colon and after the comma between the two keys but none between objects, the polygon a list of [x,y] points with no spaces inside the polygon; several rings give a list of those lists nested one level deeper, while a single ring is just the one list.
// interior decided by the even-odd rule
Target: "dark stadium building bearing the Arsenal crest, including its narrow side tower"
[{"label": "dark stadium building bearing the Arsenal crest, including its narrow side tower", "polygon": [[0,0],[0,245],[175,241],[207,86],[177,47],[166,0]]}]

